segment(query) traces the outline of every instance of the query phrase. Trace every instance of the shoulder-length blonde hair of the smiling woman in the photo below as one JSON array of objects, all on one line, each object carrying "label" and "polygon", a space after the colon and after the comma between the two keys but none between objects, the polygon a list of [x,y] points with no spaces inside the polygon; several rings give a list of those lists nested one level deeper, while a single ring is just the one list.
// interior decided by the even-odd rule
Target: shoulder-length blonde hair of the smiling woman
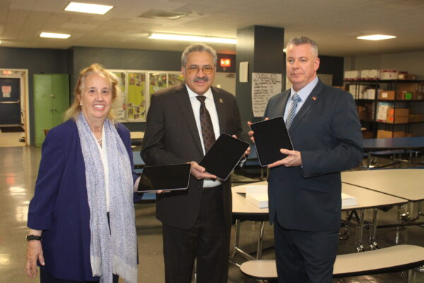
[{"label": "shoulder-length blonde hair of the smiling woman", "polygon": [[[100,74],[101,76],[105,77],[108,81],[110,81],[111,91],[112,91],[112,105],[114,101],[116,100],[116,98],[119,96],[120,91],[119,91],[119,86],[118,86],[119,81],[117,76],[113,74],[112,72],[107,71],[107,69],[102,67],[102,65],[100,64],[97,64],[97,63],[92,64],[89,67],[86,67],[85,69],[83,69],[79,74],[78,82],[76,83],[75,91],[73,92],[73,96],[74,96],[73,103],[71,107],[68,110],[66,110],[66,112],[64,113],[64,121],[67,121],[69,119],[76,120],[79,114],[81,113],[80,98],[84,89],[84,81],[86,80],[87,76],[90,76],[90,74]],[[112,112],[112,108],[109,111],[109,113],[107,113],[107,117],[112,121],[114,120],[114,114]]]}]

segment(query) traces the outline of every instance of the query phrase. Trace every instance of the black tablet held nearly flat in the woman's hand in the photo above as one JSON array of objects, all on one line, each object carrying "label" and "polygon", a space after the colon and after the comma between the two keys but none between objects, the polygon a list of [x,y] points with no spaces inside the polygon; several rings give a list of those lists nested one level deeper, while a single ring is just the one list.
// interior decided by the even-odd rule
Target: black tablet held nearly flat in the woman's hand
[{"label": "black tablet held nearly flat in the woman's hand", "polygon": [[137,191],[185,190],[189,187],[190,167],[189,163],[144,166]]}]

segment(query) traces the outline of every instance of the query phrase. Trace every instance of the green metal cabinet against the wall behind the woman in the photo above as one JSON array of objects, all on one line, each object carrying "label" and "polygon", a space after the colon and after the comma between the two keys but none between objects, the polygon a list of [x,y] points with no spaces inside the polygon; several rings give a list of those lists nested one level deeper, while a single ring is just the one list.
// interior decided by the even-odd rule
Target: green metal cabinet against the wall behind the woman
[{"label": "green metal cabinet against the wall behind the woman", "polygon": [[68,74],[34,74],[35,145],[41,146],[45,129],[63,122],[69,108]]}]

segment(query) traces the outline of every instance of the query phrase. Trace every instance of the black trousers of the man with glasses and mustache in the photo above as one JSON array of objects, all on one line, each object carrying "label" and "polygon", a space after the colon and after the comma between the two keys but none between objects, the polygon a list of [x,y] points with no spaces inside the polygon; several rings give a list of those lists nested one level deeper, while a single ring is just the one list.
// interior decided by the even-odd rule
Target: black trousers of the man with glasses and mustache
[{"label": "black trousers of the man with glasses and mustache", "polygon": [[199,218],[192,229],[163,225],[166,283],[192,282],[195,258],[197,282],[227,282],[231,226],[225,225],[222,190],[202,189]]}]

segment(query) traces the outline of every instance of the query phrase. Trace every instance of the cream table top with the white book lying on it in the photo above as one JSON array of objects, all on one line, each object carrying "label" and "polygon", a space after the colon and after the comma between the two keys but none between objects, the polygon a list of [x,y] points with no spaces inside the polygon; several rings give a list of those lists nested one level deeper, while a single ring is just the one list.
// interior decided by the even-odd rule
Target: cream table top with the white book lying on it
[{"label": "cream table top with the white book lying on it", "polygon": [[[266,185],[266,181],[252,183],[249,185]],[[232,213],[235,214],[268,214],[268,208],[259,208],[256,205],[248,202],[246,197],[241,192],[245,192],[247,185],[240,185],[232,187]],[[363,187],[357,187],[355,185],[349,185],[342,183],[341,191],[356,197],[358,205],[342,207],[342,210],[350,209],[367,209],[371,207],[384,207],[393,204],[404,204],[408,200],[404,200],[399,197],[384,194],[382,192],[375,192],[373,190],[367,190]]]}]

